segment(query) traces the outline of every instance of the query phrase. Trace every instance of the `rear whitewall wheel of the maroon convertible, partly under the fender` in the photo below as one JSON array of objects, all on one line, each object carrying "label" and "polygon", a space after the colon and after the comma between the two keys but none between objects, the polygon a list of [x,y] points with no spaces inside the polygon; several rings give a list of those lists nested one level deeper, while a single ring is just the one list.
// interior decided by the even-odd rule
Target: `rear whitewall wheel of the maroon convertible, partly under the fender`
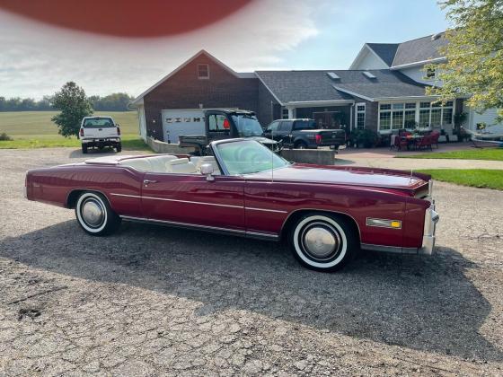
[{"label": "rear whitewall wheel of the maroon convertible, partly under the fender", "polygon": [[120,217],[113,212],[106,197],[95,192],[84,192],[75,206],[75,216],[85,232],[101,236],[119,228]]}]

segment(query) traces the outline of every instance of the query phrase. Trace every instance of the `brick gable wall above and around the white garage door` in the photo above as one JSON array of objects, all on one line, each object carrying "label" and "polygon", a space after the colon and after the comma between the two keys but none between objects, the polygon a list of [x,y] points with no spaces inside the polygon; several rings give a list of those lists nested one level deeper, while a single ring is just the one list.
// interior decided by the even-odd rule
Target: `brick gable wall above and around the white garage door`
[{"label": "brick gable wall above and around the white garage door", "polygon": [[[209,79],[198,79],[198,64],[209,66]],[[257,111],[258,91],[257,78],[236,77],[210,57],[200,55],[144,97],[147,136],[163,140],[161,110],[198,109],[202,103],[204,108]]]}]

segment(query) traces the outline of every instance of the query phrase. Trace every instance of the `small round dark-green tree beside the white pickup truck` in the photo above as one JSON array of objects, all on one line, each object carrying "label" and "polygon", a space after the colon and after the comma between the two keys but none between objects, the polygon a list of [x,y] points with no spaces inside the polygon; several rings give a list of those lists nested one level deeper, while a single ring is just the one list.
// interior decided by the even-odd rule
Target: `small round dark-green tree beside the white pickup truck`
[{"label": "small round dark-green tree beside the white pickup truck", "polygon": [[50,120],[57,124],[59,134],[65,137],[78,135],[82,118],[93,114],[84,89],[74,82],[66,83],[54,94],[52,105],[61,112]]}]

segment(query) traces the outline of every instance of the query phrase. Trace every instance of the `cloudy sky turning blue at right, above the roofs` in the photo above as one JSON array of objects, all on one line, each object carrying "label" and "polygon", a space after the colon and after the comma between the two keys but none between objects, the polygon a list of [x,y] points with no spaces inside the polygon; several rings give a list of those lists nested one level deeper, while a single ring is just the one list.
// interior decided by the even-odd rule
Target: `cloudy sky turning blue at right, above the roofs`
[{"label": "cloudy sky turning blue at right, above the roofs", "polygon": [[136,96],[201,48],[237,72],[347,69],[366,42],[401,42],[447,27],[436,0],[254,0],[204,28],[141,39],[0,10],[0,96],[38,100],[67,81],[88,95]]}]

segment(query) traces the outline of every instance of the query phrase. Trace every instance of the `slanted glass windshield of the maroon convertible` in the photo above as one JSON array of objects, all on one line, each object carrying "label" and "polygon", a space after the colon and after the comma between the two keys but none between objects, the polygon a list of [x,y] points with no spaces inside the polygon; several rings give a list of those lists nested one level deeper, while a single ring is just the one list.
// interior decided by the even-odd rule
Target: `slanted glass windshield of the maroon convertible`
[{"label": "slanted glass windshield of the maroon convertible", "polygon": [[254,140],[216,145],[216,154],[230,175],[251,174],[283,168],[290,164],[267,146]]}]

